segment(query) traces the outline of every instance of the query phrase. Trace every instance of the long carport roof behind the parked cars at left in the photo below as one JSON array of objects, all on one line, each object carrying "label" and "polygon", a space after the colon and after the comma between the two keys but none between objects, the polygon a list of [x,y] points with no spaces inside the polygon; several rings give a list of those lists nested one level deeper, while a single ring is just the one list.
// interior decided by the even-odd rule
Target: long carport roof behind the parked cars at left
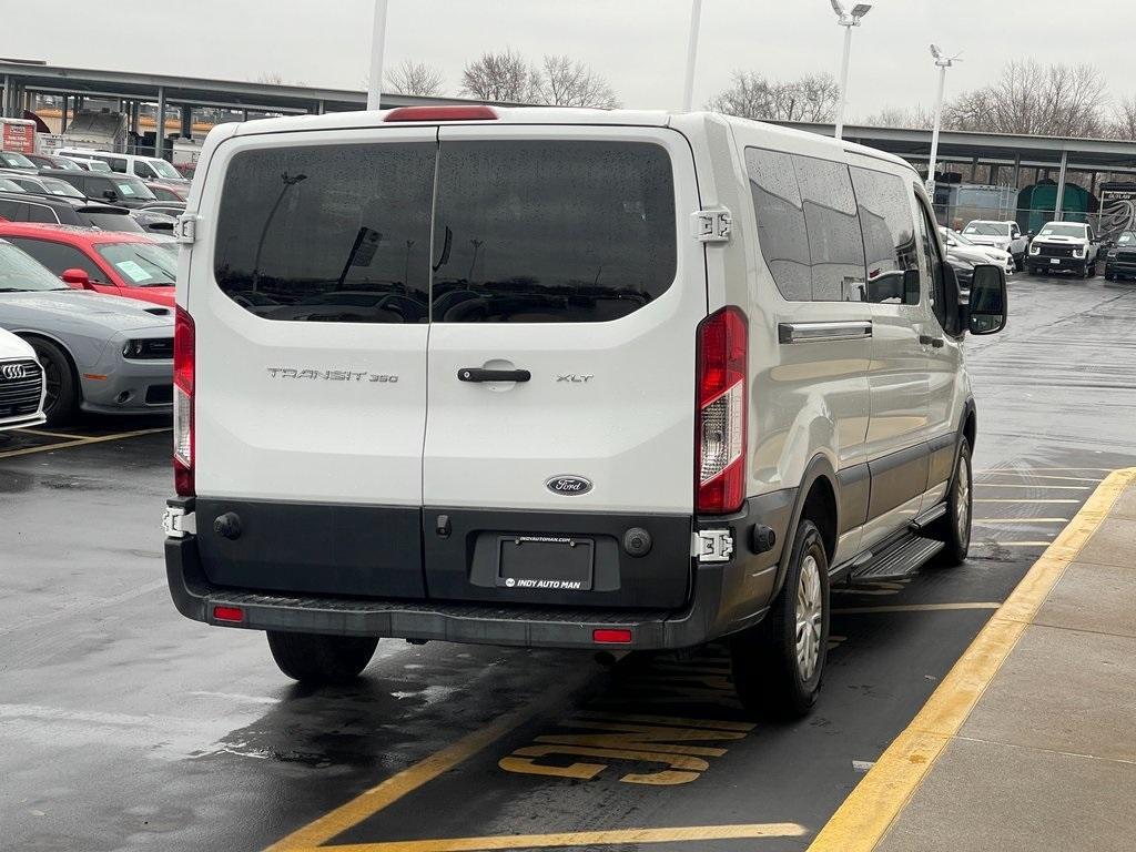
[{"label": "long carport roof behind the parked cars at left", "polygon": [[[367,93],[362,90],[323,89],[318,86],[244,83],[233,80],[203,80],[164,74],[65,68],[53,65],[25,65],[0,61],[0,81],[35,92],[84,97],[126,98],[156,102],[158,90],[165,90],[167,103],[208,107],[231,107],[273,112],[314,112],[319,105],[325,111],[364,109]],[[383,93],[383,107],[425,103],[462,103],[459,98],[420,98]]]}]

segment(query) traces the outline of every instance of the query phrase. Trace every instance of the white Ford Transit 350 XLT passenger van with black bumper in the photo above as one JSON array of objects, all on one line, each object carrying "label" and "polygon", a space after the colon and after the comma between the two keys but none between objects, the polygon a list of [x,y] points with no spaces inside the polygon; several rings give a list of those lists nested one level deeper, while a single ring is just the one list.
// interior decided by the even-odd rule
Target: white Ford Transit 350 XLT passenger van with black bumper
[{"label": "white Ford Transit 350 XLT passenger van with black bumper", "polygon": [[919,176],[709,114],[219,125],[178,223],[177,608],[304,680],[378,637],[820,685],[830,584],[970,538],[969,303]]}]

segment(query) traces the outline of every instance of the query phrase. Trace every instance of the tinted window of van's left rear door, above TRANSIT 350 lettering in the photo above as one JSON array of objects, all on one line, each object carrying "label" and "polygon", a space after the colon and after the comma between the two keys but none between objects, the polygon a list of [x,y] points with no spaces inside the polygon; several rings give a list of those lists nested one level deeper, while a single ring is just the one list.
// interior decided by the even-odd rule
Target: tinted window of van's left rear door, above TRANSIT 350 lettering
[{"label": "tinted window of van's left rear door, above TRANSIT 350 lettering", "polygon": [[425,323],[436,153],[434,142],[407,142],[235,154],[217,218],[218,286],[266,319]]}]

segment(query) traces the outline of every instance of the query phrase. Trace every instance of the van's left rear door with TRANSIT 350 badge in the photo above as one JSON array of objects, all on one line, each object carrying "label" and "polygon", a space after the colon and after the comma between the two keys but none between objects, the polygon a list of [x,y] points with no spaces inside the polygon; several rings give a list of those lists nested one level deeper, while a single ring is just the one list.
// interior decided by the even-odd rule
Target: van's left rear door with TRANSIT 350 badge
[{"label": "van's left rear door with TRANSIT 350 badge", "polygon": [[436,154],[435,128],[385,127],[236,136],[209,162],[186,307],[215,584],[425,594]]}]

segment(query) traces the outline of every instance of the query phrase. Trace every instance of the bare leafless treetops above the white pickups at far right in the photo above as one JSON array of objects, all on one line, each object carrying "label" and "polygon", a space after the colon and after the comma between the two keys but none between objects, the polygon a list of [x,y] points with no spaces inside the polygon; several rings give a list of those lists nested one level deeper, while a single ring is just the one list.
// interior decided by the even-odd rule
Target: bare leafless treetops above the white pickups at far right
[{"label": "bare leafless treetops above the white pickups at far right", "polygon": [[996,82],[967,92],[944,110],[959,130],[1052,136],[1099,136],[1109,98],[1092,65],[1010,62]]}]

